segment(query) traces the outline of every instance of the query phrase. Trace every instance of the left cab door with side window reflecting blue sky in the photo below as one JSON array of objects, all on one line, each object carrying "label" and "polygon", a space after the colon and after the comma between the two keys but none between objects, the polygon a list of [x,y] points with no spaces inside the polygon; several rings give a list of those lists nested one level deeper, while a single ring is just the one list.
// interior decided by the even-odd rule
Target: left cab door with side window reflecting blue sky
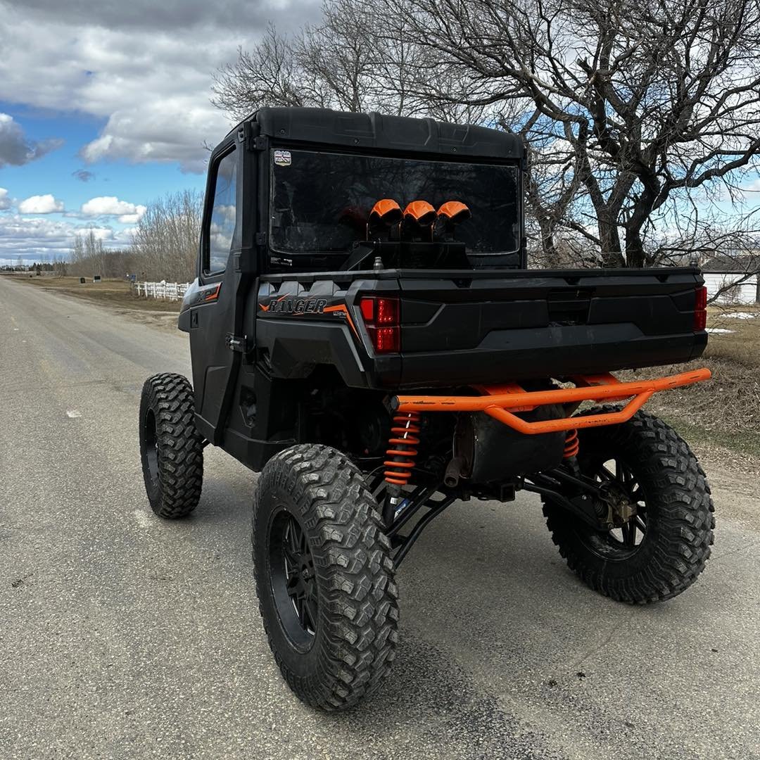
[{"label": "left cab door with side window reflecting blue sky", "polygon": [[235,333],[237,293],[242,283],[236,262],[242,249],[242,157],[237,138],[214,150],[209,164],[198,293],[190,314],[190,350],[196,424],[214,445],[223,439],[230,394],[241,354],[230,349]]}]

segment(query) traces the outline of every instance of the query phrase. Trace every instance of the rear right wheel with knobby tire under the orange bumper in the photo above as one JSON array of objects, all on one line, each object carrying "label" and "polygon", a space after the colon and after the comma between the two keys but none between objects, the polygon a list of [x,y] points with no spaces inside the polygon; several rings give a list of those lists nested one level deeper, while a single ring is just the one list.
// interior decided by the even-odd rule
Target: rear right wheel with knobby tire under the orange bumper
[{"label": "rear right wheel with knobby tire under the orange bumper", "polygon": [[[585,414],[602,411],[613,409]],[[544,499],[559,553],[594,591],[621,602],[657,602],[685,591],[705,568],[715,527],[710,486],[689,446],[644,412],[578,436],[578,466],[600,483],[597,511],[615,527],[600,533]]]}]

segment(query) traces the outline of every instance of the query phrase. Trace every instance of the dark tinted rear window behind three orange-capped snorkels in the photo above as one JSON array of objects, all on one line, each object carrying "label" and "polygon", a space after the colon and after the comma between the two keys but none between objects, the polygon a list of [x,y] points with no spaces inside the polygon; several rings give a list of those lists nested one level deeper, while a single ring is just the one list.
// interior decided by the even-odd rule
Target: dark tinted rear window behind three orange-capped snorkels
[{"label": "dark tinted rear window behind three orange-capped snorkels", "polygon": [[515,165],[278,148],[271,153],[271,245],[291,255],[347,252],[365,239],[375,201],[393,198],[402,209],[416,200],[435,208],[461,201],[472,217],[458,226],[456,238],[468,253],[515,252],[520,248],[518,182]]}]

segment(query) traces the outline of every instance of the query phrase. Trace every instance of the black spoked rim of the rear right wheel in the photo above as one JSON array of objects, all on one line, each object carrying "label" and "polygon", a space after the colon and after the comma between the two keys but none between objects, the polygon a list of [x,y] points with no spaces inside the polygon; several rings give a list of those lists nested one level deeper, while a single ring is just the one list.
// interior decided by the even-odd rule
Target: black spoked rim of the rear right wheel
[{"label": "black spoked rim of the rear right wheel", "polygon": [[606,533],[582,530],[579,532],[581,540],[591,552],[608,561],[622,562],[629,559],[641,550],[648,536],[647,497],[641,477],[633,467],[617,456],[597,461],[593,467],[588,468],[588,474],[597,483],[625,496],[635,505],[636,512],[622,525]]}]

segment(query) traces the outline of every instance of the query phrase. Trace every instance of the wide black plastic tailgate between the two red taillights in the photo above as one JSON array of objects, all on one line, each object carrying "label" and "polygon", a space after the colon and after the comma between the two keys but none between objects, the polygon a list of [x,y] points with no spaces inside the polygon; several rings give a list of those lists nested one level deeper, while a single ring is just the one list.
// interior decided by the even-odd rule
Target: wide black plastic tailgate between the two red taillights
[{"label": "wide black plastic tailgate between the two red taillights", "polygon": [[400,271],[401,385],[461,385],[687,362],[689,269]]}]

